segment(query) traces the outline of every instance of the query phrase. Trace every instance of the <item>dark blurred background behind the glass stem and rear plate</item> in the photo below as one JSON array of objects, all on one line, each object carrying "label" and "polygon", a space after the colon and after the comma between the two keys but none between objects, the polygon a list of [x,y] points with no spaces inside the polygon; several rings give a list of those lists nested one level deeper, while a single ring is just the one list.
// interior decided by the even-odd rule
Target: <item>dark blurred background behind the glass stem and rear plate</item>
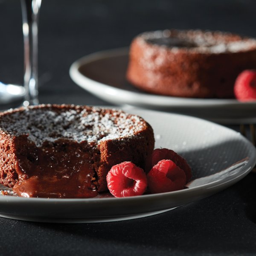
[{"label": "dark blurred background behind the glass stem and rear plate", "polygon": [[[40,101],[105,104],[94,97],[84,101],[88,94],[68,74],[73,61],[128,46],[148,30],[211,29],[256,37],[255,10],[254,0],[42,0]],[[0,1],[0,80],[6,83],[23,81],[21,20],[19,0]]]}]

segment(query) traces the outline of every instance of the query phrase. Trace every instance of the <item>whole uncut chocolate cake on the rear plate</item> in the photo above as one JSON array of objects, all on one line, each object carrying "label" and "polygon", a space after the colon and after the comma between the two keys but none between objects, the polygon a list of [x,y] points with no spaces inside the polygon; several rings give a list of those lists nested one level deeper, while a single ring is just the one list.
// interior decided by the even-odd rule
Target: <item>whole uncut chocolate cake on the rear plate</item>
[{"label": "whole uncut chocolate cake on the rear plate", "polygon": [[256,68],[256,40],[227,32],[145,32],[131,43],[127,79],[149,93],[233,98],[241,71]]}]

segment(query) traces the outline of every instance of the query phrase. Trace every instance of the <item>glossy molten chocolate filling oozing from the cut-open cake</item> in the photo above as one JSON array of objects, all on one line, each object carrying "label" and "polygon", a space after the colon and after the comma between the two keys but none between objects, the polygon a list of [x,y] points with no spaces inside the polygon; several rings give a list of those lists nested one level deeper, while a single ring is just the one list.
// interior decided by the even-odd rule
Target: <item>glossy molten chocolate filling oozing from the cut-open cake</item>
[{"label": "glossy molten chocolate filling oozing from the cut-open cake", "polygon": [[91,198],[97,195],[90,155],[78,143],[59,142],[29,151],[33,153],[29,159],[19,156],[16,163],[19,182],[13,191],[17,195],[44,198]]}]

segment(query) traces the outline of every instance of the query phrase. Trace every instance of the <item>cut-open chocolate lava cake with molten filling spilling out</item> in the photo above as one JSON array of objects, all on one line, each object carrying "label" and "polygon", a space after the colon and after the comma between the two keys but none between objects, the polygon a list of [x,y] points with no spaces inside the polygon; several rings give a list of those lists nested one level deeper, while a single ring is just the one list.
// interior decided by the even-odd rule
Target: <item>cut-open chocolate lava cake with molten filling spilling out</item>
[{"label": "cut-open chocolate lava cake with molten filling spilling out", "polygon": [[111,167],[144,168],[151,126],[123,111],[39,105],[0,113],[0,183],[23,197],[90,198],[107,190]]}]

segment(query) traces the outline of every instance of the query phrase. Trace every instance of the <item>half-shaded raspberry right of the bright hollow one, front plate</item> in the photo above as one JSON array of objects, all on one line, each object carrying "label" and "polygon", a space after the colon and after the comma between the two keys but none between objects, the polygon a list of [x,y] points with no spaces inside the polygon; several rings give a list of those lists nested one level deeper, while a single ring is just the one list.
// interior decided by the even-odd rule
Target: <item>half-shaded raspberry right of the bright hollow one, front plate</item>
[{"label": "half-shaded raspberry right of the bright hollow one, front plate", "polygon": [[151,193],[180,190],[185,184],[185,172],[172,160],[160,160],[148,173],[148,187]]}]

